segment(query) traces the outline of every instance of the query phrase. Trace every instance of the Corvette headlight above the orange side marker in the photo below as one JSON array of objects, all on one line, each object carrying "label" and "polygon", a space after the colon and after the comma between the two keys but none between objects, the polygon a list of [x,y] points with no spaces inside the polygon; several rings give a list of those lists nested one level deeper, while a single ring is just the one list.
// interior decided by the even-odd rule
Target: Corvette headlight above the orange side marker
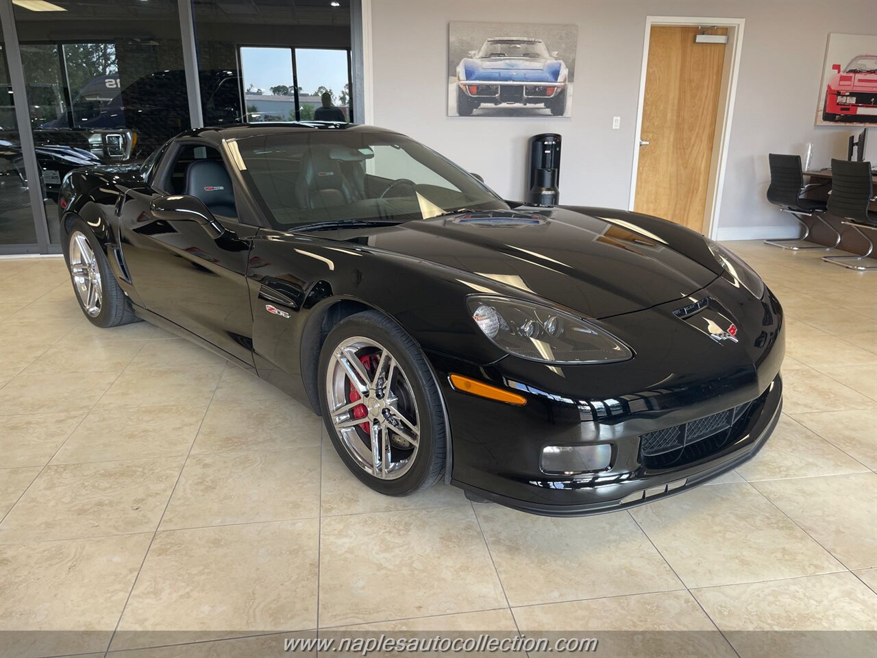
[{"label": "Corvette headlight above the orange side marker", "polygon": [[472,319],[497,347],[543,363],[626,361],[631,349],[595,325],[521,299],[467,297]]}]

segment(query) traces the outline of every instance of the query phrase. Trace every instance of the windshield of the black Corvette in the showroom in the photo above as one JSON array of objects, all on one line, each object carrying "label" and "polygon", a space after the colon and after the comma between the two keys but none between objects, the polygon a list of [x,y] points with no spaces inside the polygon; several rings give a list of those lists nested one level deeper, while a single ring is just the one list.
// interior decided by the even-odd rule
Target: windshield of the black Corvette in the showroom
[{"label": "windshield of the black Corvette in the showroom", "polygon": [[321,130],[234,142],[242,175],[275,228],[508,210],[474,176],[413,139]]}]

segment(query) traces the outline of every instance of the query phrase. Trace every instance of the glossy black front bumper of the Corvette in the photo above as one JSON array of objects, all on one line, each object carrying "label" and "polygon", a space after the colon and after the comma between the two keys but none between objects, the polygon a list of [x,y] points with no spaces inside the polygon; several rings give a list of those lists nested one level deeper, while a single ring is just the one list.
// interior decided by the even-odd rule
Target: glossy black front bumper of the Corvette
[{"label": "glossy black front bumper of the Corvette", "polygon": [[[691,297],[699,296],[709,297],[709,306],[682,321],[673,314],[679,301],[602,320],[634,349],[652,341],[631,361],[552,367],[506,357],[473,367],[431,355],[450,421],[450,482],[519,510],[577,516],[672,495],[752,458],[781,413],[782,309],[769,290],[757,300],[723,277]],[[728,318],[738,341],[719,343],[702,332],[707,321],[723,325]],[[515,407],[455,391],[446,383],[452,372],[514,389],[528,402]],[[692,449],[683,442],[678,458],[655,458],[647,449],[647,435],[702,427],[723,414],[731,421],[724,434],[701,439],[693,430]],[[611,447],[608,468],[542,470],[545,447],[599,444]]]}]

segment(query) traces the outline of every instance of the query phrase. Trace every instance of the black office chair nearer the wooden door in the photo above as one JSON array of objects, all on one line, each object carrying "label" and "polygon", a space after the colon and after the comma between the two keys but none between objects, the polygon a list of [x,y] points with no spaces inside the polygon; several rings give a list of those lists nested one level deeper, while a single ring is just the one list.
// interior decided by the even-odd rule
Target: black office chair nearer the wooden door
[{"label": "black office chair nearer the wooden door", "polygon": [[[767,200],[780,206],[781,211],[794,215],[804,226],[804,234],[796,240],[765,240],[765,244],[795,251],[802,249],[824,249],[827,251],[837,247],[840,244],[840,233],[835,231],[822,217],[822,213],[825,212],[825,202],[803,197],[804,192],[819,187],[819,183],[804,185],[801,156],[772,153],[767,157],[770,161],[770,187],[767,188]],[[837,241],[831,247],[804,242],[810,234],[810,226],[804,221],[805,217],[815,217],[822,222],[829,231],[838,236]]]}]

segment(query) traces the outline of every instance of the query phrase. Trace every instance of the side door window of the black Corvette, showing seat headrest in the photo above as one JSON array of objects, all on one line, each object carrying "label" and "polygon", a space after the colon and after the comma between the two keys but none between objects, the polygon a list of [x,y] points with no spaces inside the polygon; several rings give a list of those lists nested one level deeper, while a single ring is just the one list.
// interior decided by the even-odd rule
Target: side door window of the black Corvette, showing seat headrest
[{"label": "side door window of the black Corvette, showing seat headrest", "polygon": [[166,187],[173,194],[197,197],[214,214],[237,218],[232,178],[216,148],[184,144],[169,168]]}]

